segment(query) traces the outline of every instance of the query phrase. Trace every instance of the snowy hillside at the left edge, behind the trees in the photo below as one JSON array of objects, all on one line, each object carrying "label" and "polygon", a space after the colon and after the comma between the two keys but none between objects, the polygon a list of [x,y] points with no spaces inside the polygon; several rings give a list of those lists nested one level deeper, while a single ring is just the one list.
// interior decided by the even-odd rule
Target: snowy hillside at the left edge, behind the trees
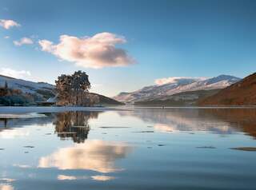
[{"label": "snowy hillside at the left edge, behind the trees", "polygon": [[54,97],[54,85],[50,85],[45,82],[33,82],[17,79],[13,77],[6,77],[0,75],[0,87],[5,86],[7,83],[10,89],[20,89],[22,93],[30,93],[37,97],[46,100],[49,97]]}]

